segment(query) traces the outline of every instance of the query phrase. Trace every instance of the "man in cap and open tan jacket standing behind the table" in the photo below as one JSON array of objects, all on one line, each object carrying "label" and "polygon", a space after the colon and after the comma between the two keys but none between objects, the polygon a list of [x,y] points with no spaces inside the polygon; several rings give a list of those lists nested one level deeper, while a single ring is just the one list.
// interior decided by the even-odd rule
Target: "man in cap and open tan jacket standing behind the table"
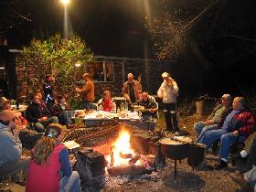
[{"label": "man in cap and open tan jacket standing behind the table", "polygon": [[141,83],[133,79],[133,73],[128,73],[127,81],[123,83],[123,97],[131,107],[131,104],[138,101],[139,90],[142,89]]}]

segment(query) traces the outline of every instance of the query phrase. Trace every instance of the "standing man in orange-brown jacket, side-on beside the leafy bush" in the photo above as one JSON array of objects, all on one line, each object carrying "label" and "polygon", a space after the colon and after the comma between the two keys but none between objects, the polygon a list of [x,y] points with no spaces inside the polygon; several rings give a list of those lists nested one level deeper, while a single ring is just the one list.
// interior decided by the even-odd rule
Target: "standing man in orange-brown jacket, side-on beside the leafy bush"
[{"label": "standing man in orange-brown jacket, side-on beside the leafy bush", "polygon": [[92,102],[95,100],[94,83],[89,73],[83,74],[83,80],[85,81],[84,86],[82,88],[76,88],[76,91],[80,93],[82,101],[84,101],[84,109],[91,110]]}]

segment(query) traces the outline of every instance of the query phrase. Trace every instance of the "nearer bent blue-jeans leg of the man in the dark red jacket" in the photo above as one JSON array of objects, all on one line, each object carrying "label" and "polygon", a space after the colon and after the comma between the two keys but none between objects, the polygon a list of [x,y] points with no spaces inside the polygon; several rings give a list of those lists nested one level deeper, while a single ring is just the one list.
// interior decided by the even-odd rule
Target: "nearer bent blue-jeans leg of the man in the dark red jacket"
[{"label": "nearer bent blue-jeans leg of the man in the dark red jacket", "polygon": [[[239,141],[238,141],[239,139]],[[246,137],[234,136],[232,133],[225,133],[220,137],[220,148],[219,148],[219,158],[228,159],[229,156],[229,147],[231,144],[236,144],[237,142],[244,142]]]}]

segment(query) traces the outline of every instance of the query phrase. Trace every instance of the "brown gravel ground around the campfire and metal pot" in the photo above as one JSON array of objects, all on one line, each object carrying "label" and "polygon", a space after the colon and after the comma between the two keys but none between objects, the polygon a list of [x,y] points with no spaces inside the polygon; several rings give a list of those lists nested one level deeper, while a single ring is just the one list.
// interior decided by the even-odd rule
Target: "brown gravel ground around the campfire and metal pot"
[{"label": "brown gravel ground around the campfire and metal pot", "polygon": [[[203,118],[202,118],[203,119]],[[195,138],[193,124],[202,120],[196,116],[180,118],[179,124],[181,131],[187,133],[191,138]],[[165,127],[163,115],[160,113],[160,119],[155,131],[162,130]],[[24,150],[24,155],[29,155],[29,151]],[[245,164],[240,163],[237,167],[229,167],[220,171],[211,168],[219,161],[218,155],[206,155],[206,165],[203,168],[197,168],[194,171],[187,164],[187,159],[177,163],[177,177],[174,178],[174,160],[166,159],[166,165],[157,169],[151,175],[143,176],[106,176],[105,188],[100,191],[237,191],[241,192],[240,187],[234,183],[229,174],[235,170],[244,171]],[[85,190],[87,191],[87,190]],[[91,189],[90,191],[97,191]]]}]

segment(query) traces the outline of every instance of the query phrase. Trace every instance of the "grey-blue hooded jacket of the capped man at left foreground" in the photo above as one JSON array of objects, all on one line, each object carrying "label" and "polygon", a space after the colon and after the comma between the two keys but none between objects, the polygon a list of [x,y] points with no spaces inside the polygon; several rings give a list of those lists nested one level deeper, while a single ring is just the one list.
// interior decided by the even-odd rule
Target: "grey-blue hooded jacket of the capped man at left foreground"
[{"label": "grey-blue hooded jacket of the capped man at left foreground", "polygon": [[6,162],[20,159],[21,150],[20,140],[16,140],[11,130],[0,123],[0,172]]}]

